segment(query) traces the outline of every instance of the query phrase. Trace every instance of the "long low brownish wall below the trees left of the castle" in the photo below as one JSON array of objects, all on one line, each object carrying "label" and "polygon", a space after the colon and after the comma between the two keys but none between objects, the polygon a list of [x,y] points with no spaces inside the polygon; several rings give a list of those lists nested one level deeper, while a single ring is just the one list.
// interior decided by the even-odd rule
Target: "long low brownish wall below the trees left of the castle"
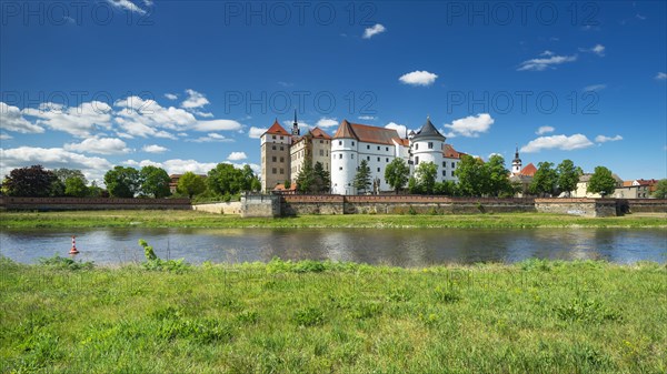
[{"label": "long low brownish wall below the trees left of the castle", "polygon": [[0,209],[16,211],[190,210],[189,199],[0,198]]}]

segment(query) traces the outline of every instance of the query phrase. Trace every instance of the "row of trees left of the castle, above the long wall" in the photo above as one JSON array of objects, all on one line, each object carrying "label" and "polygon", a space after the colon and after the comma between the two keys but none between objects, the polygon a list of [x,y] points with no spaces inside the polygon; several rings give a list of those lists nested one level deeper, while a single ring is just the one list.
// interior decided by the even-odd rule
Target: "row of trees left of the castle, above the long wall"
[{"label": "row of trees left of the castle, above the long wall", "polygon": [[[8,196],[30,198],[155,198],[171,196],[171,178],[162,168],[147,165],[139,170],[116,166],[104,173],[106,189],[88,182],[80,170],[47,170],[42,165],[18,168],[4,176],[0,192]],[[219,163],[206,176],[187,172],[179,178],[175,196],[231,200],[242,191],[259,191],[261,183],[249,165],[237,169]]]}]

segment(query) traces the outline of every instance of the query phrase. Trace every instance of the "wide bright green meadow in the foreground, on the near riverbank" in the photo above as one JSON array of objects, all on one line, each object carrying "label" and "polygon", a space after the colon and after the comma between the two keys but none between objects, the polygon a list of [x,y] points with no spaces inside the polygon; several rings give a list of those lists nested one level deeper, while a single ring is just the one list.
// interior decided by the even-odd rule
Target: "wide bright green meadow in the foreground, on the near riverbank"
[{"label": "wide bright green meadow in the foreground, on the near riverbank", "polygon": [[665,373],[667,267],[0,259],[0,372]]}]

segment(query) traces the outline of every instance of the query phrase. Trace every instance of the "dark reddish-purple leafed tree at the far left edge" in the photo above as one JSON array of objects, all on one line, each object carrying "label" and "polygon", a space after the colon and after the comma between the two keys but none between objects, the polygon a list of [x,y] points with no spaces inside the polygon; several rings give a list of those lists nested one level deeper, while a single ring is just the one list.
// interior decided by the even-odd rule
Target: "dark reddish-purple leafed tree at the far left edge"
[{"label": "dark reddish-purple leafed tree at the far left edge", "polygon": [[59,183],[53,172],[42,165],[14,169],[4,176],[2,186],[9,196],[42,198],[56,195],[53,184]]}]

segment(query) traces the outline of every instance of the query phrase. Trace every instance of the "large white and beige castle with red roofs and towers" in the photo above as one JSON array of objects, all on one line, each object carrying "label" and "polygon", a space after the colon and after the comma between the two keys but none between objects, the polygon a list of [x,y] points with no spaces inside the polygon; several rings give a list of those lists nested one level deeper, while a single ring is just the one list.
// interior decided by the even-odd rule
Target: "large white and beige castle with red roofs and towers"
[{"label": "large white and beige castle with red roofs and towers", "polygon": [[334,137],[319,128],[301,134],[297,118],[291,133],[278,120],[261,138],[261,188],[271,192],[285,188],[289,181],[296,185],[303,165],[320,162],[331,174],[331,193],[356,194],[355,175],[362,160],[370,168],[370,179],[376,191],[390,191],[385,181],[385,169],[396,158],[402,159],[410,173],[421,162],[438,166],[437,181],[456,181],[454,171],[462,153],[446,144],[446,138],[434,127],[430,119],[416,133],[410,131],[401,138],[394,129],[351,123],[342,120]]}]

